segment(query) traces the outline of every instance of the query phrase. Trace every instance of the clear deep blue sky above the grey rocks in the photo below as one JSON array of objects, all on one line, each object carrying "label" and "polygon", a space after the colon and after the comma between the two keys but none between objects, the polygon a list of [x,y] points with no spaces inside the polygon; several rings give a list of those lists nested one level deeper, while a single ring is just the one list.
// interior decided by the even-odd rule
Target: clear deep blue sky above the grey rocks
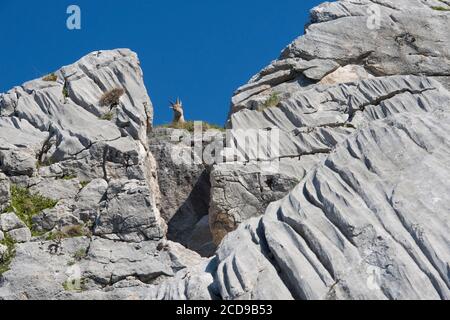
[{"label": "clear deep blue sky above the grey rocks", "polygon": [[[139,54],[155,123],[180,96],[190,120],[223,124],[231,94],[303,34],[321,0],[0,0],[0,92],[100,49]],[[66,9],[82,10],[82,30]]]}]

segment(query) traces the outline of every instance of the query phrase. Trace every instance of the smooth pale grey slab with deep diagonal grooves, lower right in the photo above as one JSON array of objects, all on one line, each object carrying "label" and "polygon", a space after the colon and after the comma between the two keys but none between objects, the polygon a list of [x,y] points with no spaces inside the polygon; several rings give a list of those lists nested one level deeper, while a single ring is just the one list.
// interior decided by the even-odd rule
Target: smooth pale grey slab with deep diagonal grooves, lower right
[{"label": "smooth pale grey slab with deep diagonal grooves, lower right", "polygon": [[[246,254],[266,250],[280,271],[272,281],[296,299],[449,299],[449,116],[405,113],[349,136],[257,220],[264,238]],[[219,266],[231,270],[228,259],[241,255],[233,248],[254,234],[242,225],[225,238],[230,251]],[[229,273],[217,274],[227,294],[241,290]],[[253,284],[249,295],[265,284],[243,271],[236,277]]]}]

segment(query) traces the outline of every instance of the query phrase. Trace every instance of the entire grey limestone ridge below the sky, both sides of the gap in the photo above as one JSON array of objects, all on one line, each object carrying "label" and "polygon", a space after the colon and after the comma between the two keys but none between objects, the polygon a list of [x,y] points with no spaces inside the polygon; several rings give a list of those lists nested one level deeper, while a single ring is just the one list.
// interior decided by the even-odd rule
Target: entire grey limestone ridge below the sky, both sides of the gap
[{"label": "entire grey limestone ridge below the sky, both sides of the gap", "polygon": [[[0,95],[0,299],[450,299],[437,6],[314,8],[236,91],[226,135],[152,128],[128,50]],[[18,196],[43,209],[27,219]]]}]

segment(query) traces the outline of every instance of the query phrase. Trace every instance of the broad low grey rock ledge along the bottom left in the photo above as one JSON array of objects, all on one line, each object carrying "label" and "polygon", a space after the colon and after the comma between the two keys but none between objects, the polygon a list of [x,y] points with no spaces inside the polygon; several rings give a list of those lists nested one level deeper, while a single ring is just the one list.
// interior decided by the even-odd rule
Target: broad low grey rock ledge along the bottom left
[{"label": "broad low grey rock ledge along the bottom left", "polygon": [[8,285],[0,286],[0,297],[211,299],[216,292],[211,271],[209,260],[173,243],[159,247],[153,241],[126,243],[97,237],[29,242],[17,244],[16,258],[3,275]]}]

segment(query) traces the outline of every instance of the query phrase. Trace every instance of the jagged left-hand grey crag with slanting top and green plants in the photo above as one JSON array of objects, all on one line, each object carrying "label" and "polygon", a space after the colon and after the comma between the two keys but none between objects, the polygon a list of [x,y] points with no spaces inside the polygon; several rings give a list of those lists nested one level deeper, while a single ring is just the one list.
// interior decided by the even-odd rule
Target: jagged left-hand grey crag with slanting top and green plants
[{"label": "jagged left-hand grey crag with slanting top and green plants", "polygon": [[[55,75],[0,95],[0,241],[10,240],[0,248],[9,264],[0,298],[210,298],[195,285],[207,288],[212,276],[187,268],[203,272],[208,260],[165,240],[136,54],[94,52]],[[105,117],[100,100],[114,88],[125,94]],[[56,205],[27,218],[42,202]],[[180,270],[177,289],[195,280],[176,291],[165,279]]]}]

